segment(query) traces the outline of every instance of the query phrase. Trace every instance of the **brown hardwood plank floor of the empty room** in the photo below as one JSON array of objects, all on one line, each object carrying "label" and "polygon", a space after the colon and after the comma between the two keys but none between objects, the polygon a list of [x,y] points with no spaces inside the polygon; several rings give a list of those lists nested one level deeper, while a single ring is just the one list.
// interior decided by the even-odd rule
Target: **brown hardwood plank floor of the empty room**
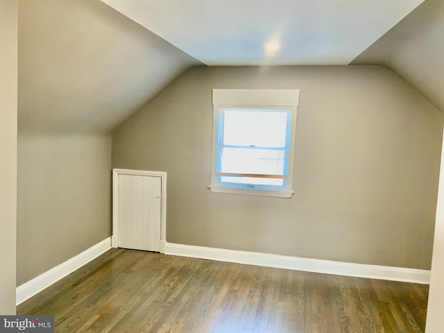
[{"label": "brown hardwood plank floor of the empty room", "polygon": [[19,305],[56,332],[423,332],[428,286],[112,249]]}]

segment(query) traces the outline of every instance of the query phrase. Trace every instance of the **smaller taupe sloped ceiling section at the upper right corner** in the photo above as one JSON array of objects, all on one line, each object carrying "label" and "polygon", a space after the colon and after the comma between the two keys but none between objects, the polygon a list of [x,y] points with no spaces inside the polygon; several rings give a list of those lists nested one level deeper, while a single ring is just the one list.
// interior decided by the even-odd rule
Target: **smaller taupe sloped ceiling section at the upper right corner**
[{"label": "smaller taupe sloped ceiling section at the upper right corner", "polygon": [[422,3],[352,64],[388,67],[444,113],[444,1]]}]

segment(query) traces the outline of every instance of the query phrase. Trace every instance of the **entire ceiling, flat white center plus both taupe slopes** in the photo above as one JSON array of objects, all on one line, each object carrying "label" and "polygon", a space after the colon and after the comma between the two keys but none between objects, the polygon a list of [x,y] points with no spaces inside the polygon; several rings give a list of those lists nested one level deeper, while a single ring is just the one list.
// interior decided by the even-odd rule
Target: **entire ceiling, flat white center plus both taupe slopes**
[{"label": "entire ceiling, flat white center plus both taupe slopes", "polygon": [[384,65],[444,111],[443,38],[442,0],[22,0],[19,130],[108,133],[203,64]]}]

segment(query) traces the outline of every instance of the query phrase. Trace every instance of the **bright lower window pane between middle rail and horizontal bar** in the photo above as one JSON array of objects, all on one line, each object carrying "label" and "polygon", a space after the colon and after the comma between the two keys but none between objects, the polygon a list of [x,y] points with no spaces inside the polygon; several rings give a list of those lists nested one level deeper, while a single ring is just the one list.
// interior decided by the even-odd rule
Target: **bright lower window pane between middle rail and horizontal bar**
[{"label": "bright lower window pane between middle rail and horizontal bar", "polygon": [[219,172],[284,175],[284,162],[285,151],[258,148],[222,148]]}]

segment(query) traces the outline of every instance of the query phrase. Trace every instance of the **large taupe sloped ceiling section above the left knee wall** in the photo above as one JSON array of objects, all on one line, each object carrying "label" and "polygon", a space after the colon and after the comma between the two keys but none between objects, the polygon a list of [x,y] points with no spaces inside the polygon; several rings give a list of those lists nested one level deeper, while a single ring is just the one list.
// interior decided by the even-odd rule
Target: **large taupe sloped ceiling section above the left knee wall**
[{"label": "large taupe sloped ceiling section above the left knee wall", "polygon": [[199,64],[99,0],[19,1],[19,131],[106,133]]}]

